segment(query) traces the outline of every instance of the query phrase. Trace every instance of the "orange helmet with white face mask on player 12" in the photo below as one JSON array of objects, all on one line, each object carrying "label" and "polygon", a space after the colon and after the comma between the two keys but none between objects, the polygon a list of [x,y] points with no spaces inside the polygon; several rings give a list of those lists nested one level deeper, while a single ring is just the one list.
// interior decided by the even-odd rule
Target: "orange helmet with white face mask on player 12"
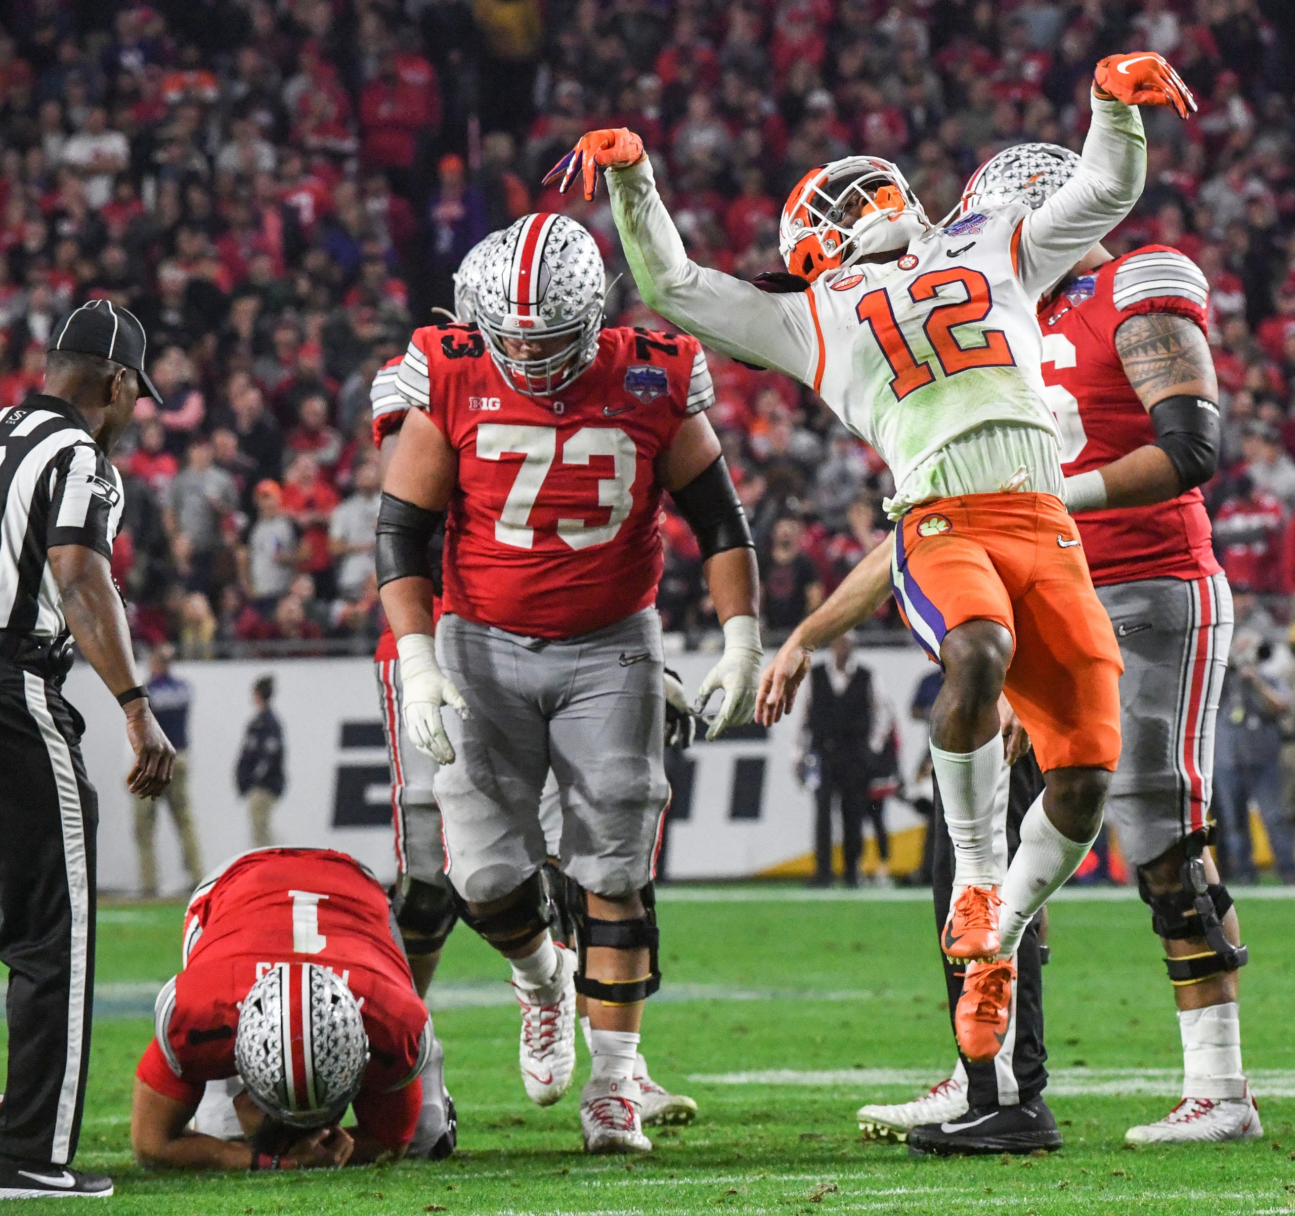
[{"label": "orange helmet with white face mask on player 12", "polygon": [[778,253],[793,275],[813,282],[866,254],[904,249],[930,227],[897,164],[846,157],[796,183],[782,208]]}]

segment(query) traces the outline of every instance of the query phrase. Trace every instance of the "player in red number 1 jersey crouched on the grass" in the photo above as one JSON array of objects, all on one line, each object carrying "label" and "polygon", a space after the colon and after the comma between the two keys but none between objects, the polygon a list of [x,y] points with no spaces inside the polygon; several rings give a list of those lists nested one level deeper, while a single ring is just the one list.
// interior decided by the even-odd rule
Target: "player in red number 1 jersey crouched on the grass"
[{"label": "player in red number 1 jersey crouched on the grass", "polygon": [[300,1169],[452,1153],[440,1042],[390,916],[373,875],[332,850],[254,850],[203,882],[135,1074],[140,1163]]}]

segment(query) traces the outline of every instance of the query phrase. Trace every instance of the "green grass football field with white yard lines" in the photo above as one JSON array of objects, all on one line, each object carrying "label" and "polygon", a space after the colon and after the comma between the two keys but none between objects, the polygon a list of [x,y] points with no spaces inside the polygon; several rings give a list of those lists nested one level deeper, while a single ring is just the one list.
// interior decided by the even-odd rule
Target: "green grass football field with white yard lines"
[{"label": "green grass football field with white yard lines", "polygon": [[[1277,892],[1269,892],[1277,894]],[[662,892],[664,987],[644,1050],[701,1106],[655,1132],[646,1159],[587,1158],[578,1092],[532,1106],[517,1072],[515,1006],[500,961],[460,927],[434,992],[458,1153],[438,1164],[335,1173],[150,1175],[130,1154],[135,1063],[152,993],[179,957],[177,905],[106,906],[100,1017],[76,1164],[110,1172],[96,1211],[447,1212],[1290,1212],[1295,1211],[1295,903],[1239,900],[1246,1066],[1265,1134],[1243,1145],[1127,1149],[1125,1127],[1176,1101],[1177,1023],[1136,899],[1052,908],[1045,971],[1053,1110],[1066,1147],[1037,1158],[940,1160],[862,1143],[864,1101],[903,1101],[951,1068],[930,903],[813,899],[793,890]]]}]

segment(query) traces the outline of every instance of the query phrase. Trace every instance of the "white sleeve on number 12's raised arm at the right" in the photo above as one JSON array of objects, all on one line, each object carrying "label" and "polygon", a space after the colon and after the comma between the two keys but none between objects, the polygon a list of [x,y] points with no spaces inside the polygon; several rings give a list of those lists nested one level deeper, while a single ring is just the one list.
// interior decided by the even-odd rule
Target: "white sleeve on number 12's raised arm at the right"
[{"label": "white sleeve on number 12's raised arm at the right", "polygon": [[1037,299],[1102,240],[1142,194],[1146,136],[1142,117],[1121,101],[1093,97],[1093,124],[1075,176],[1020,231],[1017,273]]}]

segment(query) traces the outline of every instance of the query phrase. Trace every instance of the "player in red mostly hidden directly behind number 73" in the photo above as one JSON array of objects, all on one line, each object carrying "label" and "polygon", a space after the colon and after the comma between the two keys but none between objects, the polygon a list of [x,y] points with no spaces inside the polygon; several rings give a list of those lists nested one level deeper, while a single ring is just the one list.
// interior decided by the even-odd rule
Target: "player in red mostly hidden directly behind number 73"
[{"label": "player in red mostly hidden directly behind number 73", "polygon": [[[482,267],[487,254],[502,234],[502,229],[492,232],[474,245],[455,272],[455,320],[465,324],[475,321],[477,285],[480,281]],[[391,452],[395,451],[396,436],[411,409],[409,399],[401,395],[395,383],[400,361],[399,357],[392,359],[378,372],[370,392],[373,443],[382,453],[383,461],[390,460]],[[439,575],[439,570],[434,570],[434,574]],[[436,963],[440,961],[442,947],[458,918],[449,879],[445,878],[440,808],[433,791],[436,761],[414,746],[404,726],[400,658],[390,625],[378,640],[373,662],[378,681],[382,730],[387,745],[387,763],[391,768],[391,812],[398,870],[392,909],[413,973],[414,987],[420,996],[426,996]],[[695,719],[682,685],[670,671],[666,672],[664,693],[666,742],[686,747],[693,738]],[[559,850],[562,808],[552,772],[540,803],[540,821],[553,860]],[[566,894],[565,884],[554,886],[550,891],[550,895],[563,904]],[[565,906],[559,912],[565,917]],[[592,1027],[585,997],[576,996],[576,1010],[588,1044]],[[692,1098],[671,1093],[653,1080],[642,1053],[636,1058],[635,1080],[642,1092],[644,1127],[689,1123],[697,1114],[697,1103]]]}]

